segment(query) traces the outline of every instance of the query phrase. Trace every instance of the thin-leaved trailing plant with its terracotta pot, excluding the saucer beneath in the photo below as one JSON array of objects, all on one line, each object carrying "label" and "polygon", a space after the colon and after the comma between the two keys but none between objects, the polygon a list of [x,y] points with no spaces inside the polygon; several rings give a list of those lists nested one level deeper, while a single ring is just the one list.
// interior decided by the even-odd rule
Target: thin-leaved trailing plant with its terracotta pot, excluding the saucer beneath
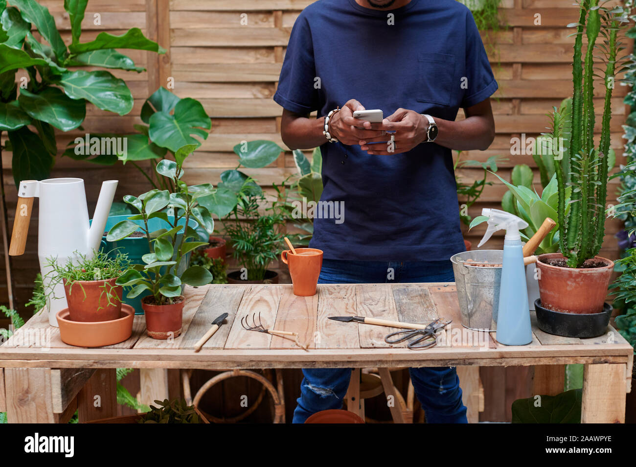
[{"label": "thin-leaved trailing plant with its terracotta pot, excluding the saucer beneath", "polygon": [[62,281],[70,318],[84,322],[120,317],[123,288],[115,282],[129,266],[127,254],[104,251],[95,252],[92,258],[76,253],[76,258],[69,258],[65,264],[49,258],[47,264],[52,275],[51,290]]}]

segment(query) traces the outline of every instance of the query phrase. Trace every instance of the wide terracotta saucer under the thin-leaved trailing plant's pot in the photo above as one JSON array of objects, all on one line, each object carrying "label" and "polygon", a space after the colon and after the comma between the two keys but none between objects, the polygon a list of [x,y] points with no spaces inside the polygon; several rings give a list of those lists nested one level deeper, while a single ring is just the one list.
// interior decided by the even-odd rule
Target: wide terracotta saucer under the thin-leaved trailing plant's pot
[{"label": "wide terracotta saucer under the thin-leaved trailing plant's pot", "polygon": [[56,316],[62,342],[76,347],[103,347],[119,344],[130,337],[135,309],[123,303],[118,319],[93,323],[71,321],[67,308],[57,312]]}]

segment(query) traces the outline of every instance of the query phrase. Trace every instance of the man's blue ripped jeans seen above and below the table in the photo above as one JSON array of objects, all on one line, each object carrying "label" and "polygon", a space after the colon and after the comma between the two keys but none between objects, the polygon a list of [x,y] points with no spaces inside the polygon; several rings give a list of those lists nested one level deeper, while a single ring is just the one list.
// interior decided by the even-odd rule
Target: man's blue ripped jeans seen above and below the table
[{"label": "man's blue ripped jeans seen above and below the table", "polygon": [[[389,268],[392,268],[392,276],[389,276]],[[319,284],[453,281],[450,261],[324,260],[318,279]],[[454,367],[409,368],[409,372],[427,423],[467,423],[462,389]],[[305,378],[294,410],[294,423],[303,423],[309,415],[320,410],[342,408],[349,387],[350,368],[303,368],[303,375]]]}]

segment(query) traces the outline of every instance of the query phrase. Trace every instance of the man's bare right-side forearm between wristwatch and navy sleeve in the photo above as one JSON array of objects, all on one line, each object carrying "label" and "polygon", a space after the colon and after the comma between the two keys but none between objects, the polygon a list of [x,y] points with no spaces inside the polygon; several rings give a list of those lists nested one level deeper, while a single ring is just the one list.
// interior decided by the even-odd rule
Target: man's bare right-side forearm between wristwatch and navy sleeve
[{"label": "man's bare right-side forearm between wristwatch and navy sleeve", "polygon": [[486,150],[495,138],[494,123],[481,115],[475,115],[451,122],[433,116],[438,125],[438,137],[435,143],[452,150]]}]

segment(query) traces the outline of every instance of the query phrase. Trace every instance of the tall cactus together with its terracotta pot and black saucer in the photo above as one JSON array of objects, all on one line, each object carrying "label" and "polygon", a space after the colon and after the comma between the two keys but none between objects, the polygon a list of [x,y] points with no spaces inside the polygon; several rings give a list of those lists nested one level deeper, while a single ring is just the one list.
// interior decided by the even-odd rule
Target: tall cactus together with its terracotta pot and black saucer
[{"label": "tall cactus together with its terracotta pot and black saucer", "polygon": [[[569,150],[566,157],[569,164],[555,164],[558,192],[558,243],[560,253],[542,254],[537,261],[539,268],[539,293],[541,303],[537,302],[537,319],[541,310],[544,319],[566,320],[577,327],[584,316],[604,313],[607,286],[611,279],[614,262],[597,256],[603,242],[605,230],[605,201],[607,199],[607,181],[610,159],[610,117],[611,97],[614,88],[617,53],[622,50],[617,39],[618,31],[628,22],[623,8],[604,8],[598,0],[580,2],[579,21],[569,25],[576,27],[574,42],[574,64],[572,78],[572,117],[569,138]],[[583,34],[587,38],[584,57],[581,52]],[[605,95],[602,115],[600,142],[594,141],[594,76],[595,53],[604,56]],[[598,55],[597,55],[598,57]],[[598,76],[598,75],[597,75]],[[563,118],[555,109],[553,119],[553,141],[562,141]],[[563,155],[563,152],[561,153]],[[569,174],[563,167],[569,167]],[[569,179],[568,179],[569,178]],[[571,187],[571,188],[570,188]],[[569,193],[569,202],[566,193]],[[605,306],[605,311],[607,306]],[[609,307],[611,310],[611,307]],[[549,316],[546,316],[548,313]],[[558,314],[558,315],[556,315]],[[572,314],[578,315],[573,317]],[[587,317],[591,325],[591,316]],[[596,319],[596,318],[595,318]],[[609,314],[597,319],[598,330],[604,332]],[[603,324],[604,323],[604,324]],[[544,321],[546,324],[546,321]],[[567,326],[565,326],[567,328]],[[558,326],[544,329],[548,332],[567,332]],[[570,327],[570,331],[573,329]],[[578,328],[589,335],[591,330]],[[572,331],[579,333],[579,331]],[[580,333],[579,333],[580,334]],[[562,334],[563,335],[563,334]],[[598,335],[598,334],[597,334]],[[582,337],[578,335],[577,337]]]}]

